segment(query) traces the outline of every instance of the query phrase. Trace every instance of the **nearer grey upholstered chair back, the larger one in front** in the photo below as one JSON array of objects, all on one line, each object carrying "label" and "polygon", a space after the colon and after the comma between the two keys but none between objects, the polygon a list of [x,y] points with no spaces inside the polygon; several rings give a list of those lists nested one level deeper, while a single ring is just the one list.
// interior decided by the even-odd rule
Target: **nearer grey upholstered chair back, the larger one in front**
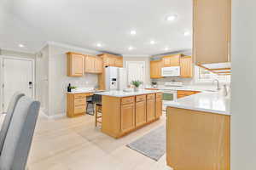
[{"label": "nearer grey upholstered chair back, the larger one in front", "polygon": [[18,101],[0,156],[0,170],[25,170],[40,103],[23,96]]}]

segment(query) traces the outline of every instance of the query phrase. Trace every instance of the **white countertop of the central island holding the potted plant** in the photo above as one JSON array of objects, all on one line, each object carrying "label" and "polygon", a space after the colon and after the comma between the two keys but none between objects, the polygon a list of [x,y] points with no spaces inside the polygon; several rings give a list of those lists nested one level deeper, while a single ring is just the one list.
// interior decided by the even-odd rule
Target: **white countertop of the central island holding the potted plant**
[{"label": "white countertop of the central island holding the potted plant", "polygon": [[113,96],[113,97],[128,97],[128,96],[135,96],[135,95],[142,95],[142,94],[154,94],[161,92],[160,90],[145,90],[140,89],[137,92],[123,92],[123,91],[108,91],[108,92],[100,92],[95,94],[105,95],[105,96]]}]

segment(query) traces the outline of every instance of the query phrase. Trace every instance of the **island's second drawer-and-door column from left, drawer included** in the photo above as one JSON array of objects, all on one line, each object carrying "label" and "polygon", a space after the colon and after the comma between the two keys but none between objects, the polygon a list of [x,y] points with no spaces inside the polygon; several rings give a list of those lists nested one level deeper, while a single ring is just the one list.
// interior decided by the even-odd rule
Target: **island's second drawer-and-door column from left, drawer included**
[{"label": "island's second drawer-and-door column from left, drawer included", "polygon": [[147,103],[146,95],[136,97],[136,127],[140,127],[147,122]]}]

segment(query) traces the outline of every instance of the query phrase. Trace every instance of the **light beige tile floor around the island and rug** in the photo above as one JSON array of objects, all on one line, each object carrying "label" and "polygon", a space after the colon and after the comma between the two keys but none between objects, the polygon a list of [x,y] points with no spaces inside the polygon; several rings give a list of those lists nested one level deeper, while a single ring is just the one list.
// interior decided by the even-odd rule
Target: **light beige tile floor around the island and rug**
[{"label": "light beige tile floor around the island and rug", "polygon": [[94,125],[94,116],[38,118],[27,167],[29,170],[165,170],[166,155],[159,161],[126,147],[160,121],[143,127],[121,139],[113,139]]}]

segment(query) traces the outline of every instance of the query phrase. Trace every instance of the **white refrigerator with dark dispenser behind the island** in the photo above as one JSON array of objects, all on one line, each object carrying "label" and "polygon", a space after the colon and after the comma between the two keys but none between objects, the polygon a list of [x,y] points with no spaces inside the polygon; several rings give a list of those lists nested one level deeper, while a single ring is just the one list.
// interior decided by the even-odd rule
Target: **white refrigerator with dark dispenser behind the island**
[{"label": "white refrigerator with dark dispenser behind the island", "polygon": [[106,90],[123,90],[127,88],[127,71],[125,68],[108,66],[105,68]]}]

